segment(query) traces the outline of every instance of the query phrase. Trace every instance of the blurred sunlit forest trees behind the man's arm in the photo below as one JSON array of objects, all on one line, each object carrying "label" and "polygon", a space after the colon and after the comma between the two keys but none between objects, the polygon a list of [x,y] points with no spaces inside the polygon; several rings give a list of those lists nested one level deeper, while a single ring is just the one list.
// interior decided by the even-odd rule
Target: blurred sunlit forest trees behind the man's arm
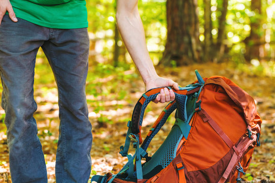
[{"label": "blurred sunlit forest trees behind the man's arm", "polygon": [[[115,0],[87,1],[94,63],[131,64],[115,23]],[[274,66],[272,0],[140,0],[155,65],[231,62]]]}]

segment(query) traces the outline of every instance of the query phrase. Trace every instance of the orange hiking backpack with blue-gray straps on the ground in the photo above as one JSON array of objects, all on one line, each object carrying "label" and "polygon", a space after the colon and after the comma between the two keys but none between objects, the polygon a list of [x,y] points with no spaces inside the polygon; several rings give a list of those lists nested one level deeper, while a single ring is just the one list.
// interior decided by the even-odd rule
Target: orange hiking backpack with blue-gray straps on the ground
[{"label": "orange hiking backpack with blue-gray straps on the ground", "polygon": [[[180,90],[161,112],[146,139],[141,137],[146,106],[159,94],[154,88],[136,103],[120,154],[128,163],[113,175],[95,175],[98,183],[239,182],[260,145],[261,118],[253,98],[223,76],[202,78]],[[170,87],[169,87],[170,88]],[[176,109],[175,125],[152,157],[146,150],[152,138]],[[128,155],[130,141],[135,154]],[[143,141],[143,142],[142,142]],[[146,162],[141,163],[145,158]]]}]

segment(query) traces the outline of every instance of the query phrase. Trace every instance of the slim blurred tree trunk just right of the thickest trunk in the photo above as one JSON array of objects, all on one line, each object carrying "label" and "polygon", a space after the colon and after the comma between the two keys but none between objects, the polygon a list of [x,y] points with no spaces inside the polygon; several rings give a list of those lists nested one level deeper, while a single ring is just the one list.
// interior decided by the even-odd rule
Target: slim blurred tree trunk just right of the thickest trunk
[{"label": "slim blurred tree trunk just right of the thickest trunk", "polygon": [[212,20],[211,0],[204,0],[204,61],[211,60],[209,57],[212,45]]}]

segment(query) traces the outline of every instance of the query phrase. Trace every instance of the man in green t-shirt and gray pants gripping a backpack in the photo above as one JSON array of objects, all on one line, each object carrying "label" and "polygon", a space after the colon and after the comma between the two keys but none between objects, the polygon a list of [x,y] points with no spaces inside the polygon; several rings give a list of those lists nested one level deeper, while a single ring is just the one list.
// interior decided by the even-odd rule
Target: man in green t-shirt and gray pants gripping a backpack
[{"label": "man in green t-shirt and gray pants gripping a backpack", "polygon": [[[134,1],[129,1],[134,2]],[[0,75],[2,107],[9,146],[12,181],[47,182],[46,165],[36,120],[33,95],[37,51],[42,47],[56,78],[59,96],[59,142],[56,157],[57,182],[87,182],[91,171],[91,124],[85,94],[89,37],[84,0],[0,0]],[[124,21],[124,20],[122,20]],[[121,30],[121,28],[120,28]],[[128,34],[121,30],[127,39]],[[141,32],[141,37],[144,34]],[[136,38],[135,38],[136,39]],[[159,78],[151,60],[139,58],[125,41],[146,89],[173,86]],[[144,46],[144,45],[143,45]],[[174,99],[162,90],[155,102]]]}]

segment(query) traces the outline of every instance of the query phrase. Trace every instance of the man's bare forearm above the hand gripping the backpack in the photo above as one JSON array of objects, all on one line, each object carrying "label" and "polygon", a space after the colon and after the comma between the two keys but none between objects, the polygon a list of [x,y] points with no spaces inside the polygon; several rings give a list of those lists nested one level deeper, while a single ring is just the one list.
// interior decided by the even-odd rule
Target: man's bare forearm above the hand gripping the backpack
[{"label": "man's bare forearm above the hand gripping the backpack", "polygon": [[126,10],[119,8],[121,7],[118,5],[116,18],[119,32],[137,70],[139,70],[143,81],[146,83],[148,80],[157,77],[157,74],[147,50],[140,14],[137,6]]}]

